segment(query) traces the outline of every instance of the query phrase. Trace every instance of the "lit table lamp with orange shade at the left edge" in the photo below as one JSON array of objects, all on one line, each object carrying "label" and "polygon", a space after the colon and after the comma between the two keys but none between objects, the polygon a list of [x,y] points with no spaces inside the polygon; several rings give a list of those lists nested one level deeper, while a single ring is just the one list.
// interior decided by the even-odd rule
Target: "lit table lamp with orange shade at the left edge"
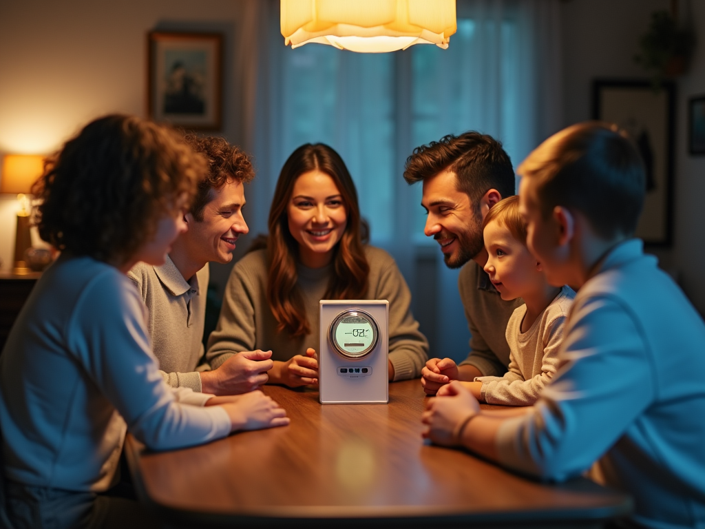
[{"label": "lit table lamp with orange shade at the left edge", "polygon": [[20,210],[17,213],[15,235],[15,267],[13,274],[32,272],[25,263],[25,251],[32,247],[30,234],[30,200],[27,196],[44,171],[44,158],[39,154],[6,154],[0,174],[0,193],[17,195]]}]

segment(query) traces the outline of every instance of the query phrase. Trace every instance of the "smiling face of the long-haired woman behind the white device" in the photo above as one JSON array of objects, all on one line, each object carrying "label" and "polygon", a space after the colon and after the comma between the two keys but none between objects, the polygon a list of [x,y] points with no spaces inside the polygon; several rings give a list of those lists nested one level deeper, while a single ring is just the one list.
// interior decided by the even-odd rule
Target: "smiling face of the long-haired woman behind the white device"
[{"label": "smiling face of the long-haired woman behind the white device", "polygon": [[348,221],[343,197],[331,176],[318,170],[299,176],[286,208],[289,231],[299,243],[303,265],[327,265]]}]

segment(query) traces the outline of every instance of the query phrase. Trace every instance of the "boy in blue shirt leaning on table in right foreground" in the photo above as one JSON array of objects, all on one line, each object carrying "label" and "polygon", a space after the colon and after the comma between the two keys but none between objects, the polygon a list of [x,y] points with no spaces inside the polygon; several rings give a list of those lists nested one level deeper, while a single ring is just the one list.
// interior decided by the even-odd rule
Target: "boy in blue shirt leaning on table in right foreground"
[{"label": "boy in blue shirt leaning on table in right foreground", "polygon": [[628,523],[705,528],[705,324],[632,238],[639,154],[615,127],[580,123],[518,172],[529,250],[551,284],[580,289],[558,372],[535,406],[504,414],[453,382],[427,406],[426,437],[548,480],[597,462],[634,497]]}]

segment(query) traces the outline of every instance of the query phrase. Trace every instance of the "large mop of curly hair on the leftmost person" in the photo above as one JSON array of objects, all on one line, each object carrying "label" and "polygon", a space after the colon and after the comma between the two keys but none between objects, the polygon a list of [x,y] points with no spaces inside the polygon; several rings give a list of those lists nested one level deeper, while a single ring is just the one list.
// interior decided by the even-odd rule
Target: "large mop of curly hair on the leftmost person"
[{"label": "large mop of curly hair on the leftmost person", "polygon": [[39,235],[59,250],[120,266],[159,219],[187,205],[205,160],[178,134],[134,116],[88,123],[44,162],[32,188]]}]

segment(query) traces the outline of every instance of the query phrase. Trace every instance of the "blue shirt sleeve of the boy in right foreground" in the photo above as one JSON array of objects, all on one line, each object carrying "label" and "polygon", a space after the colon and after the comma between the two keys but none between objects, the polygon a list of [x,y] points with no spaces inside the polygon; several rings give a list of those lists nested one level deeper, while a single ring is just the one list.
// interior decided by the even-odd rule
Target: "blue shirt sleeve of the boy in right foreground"
[{"label": "blue shirt sleeve of the boy in right foreground", "polygon": [[582,473],[654,397],[644,333],[619,300],[577,301],[556,377],[534,412],[503,422],[498,461],[546,480]]}]

